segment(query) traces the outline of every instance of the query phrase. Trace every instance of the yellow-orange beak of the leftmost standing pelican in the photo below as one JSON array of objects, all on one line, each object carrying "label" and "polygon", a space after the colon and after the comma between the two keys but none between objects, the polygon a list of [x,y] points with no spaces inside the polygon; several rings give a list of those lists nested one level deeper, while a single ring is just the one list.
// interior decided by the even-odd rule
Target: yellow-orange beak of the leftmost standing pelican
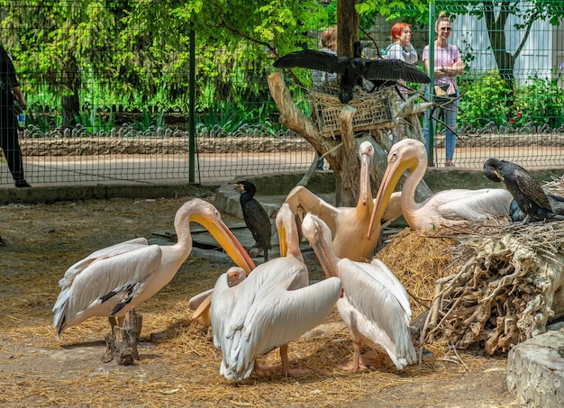
[{"label": "yellow-orange beak of the leftmost standing pelican", "polygon": [[250,274],[250,271],[255,268],[254,262],[241,245],[241,242],[235,238],[232,231],[227,228],[227,225],[225,225],[223,221],[209,220],[198,213],[192,214],[189,221],[203,225],[222,246],[225,252],[227,252],[227,255],[233,259],[233,262],[235,262],[238,267],[241,267],[247,274]]}]

